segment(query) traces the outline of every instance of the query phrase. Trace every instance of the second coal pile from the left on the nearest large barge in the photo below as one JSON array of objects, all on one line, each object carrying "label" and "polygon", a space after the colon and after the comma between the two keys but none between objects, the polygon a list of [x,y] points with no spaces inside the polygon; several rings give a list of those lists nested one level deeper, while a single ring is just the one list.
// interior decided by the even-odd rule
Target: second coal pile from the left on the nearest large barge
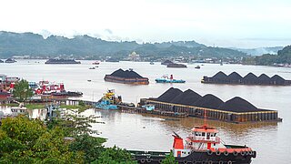
[{"label": "second coal pile from the left on the nearest large barge", "polygon": [[191,106],[193,105],[201,96],[191,89],[187,89],[185,92],[175,97],[171,103],[182,104]]}]

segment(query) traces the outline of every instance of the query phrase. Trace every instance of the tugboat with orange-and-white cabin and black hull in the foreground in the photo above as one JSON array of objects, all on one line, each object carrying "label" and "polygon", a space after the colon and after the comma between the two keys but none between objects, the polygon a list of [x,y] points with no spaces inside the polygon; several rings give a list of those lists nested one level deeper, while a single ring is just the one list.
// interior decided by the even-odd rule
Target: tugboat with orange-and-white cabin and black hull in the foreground
[{"label": "tugboat with orange-and-white cabin and black hull in the foreground", "polygon": [[226,145],[217,137],[216,128],[192,128],[191,133],[183,138],[174,132],[171,152],[130,150],[138,163],[162,163],[166,156],[173,155],[178,163],[195,164],[249,164],[256,158],[256,151],[245,146]]}]

